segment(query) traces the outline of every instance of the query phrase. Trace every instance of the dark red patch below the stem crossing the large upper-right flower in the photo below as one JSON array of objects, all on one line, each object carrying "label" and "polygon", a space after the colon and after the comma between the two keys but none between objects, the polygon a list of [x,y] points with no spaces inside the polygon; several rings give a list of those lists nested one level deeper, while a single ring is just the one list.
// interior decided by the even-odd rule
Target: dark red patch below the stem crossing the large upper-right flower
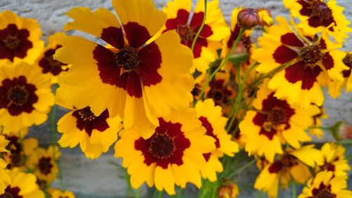
[{"label": "dark red patch below the stem crossing the large upper-right flower", "polygon": [[310,90],[320,72],[322,69],[319,66],[306,66],[303,61],[298,61],[285,69],[284,77],[292,84],[301,81],[301,89]]}]

